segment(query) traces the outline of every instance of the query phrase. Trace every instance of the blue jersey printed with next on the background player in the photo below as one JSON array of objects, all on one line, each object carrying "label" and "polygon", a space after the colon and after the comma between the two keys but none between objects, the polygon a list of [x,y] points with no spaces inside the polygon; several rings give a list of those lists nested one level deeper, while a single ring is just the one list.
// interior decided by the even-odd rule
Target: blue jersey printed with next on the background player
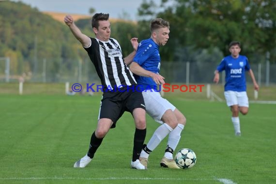
[{"label": "blue jersey printed with next on the background player", "polygon": [[222,59],[216,68],[219,72],[225,70],[224,91],[245,92],[245,71],[250,70],[248,59],[239,55],[233,58],[231,55]]}]

